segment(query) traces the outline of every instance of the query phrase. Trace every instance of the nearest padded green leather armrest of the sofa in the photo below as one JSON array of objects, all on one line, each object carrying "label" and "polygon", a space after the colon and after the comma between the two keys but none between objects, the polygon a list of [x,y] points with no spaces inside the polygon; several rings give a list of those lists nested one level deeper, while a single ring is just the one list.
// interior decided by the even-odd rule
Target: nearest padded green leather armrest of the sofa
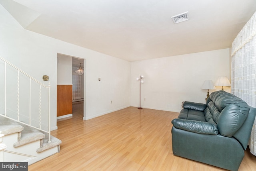
[{"label": "nearest padded green leather armrest of the sofa", "polygon": [[208,122],[174,119],[172,120],[172,124],[175,128],[198,134],[217,135],[219,133],[217,127],[214,124],[210,124]]}]

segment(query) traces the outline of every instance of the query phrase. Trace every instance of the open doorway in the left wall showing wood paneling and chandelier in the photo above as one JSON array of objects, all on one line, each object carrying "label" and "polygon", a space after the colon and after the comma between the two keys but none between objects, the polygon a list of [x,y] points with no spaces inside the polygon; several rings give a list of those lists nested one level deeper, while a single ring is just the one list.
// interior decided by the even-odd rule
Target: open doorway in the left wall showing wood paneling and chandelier
[{"label": "open doorway in the left wall showing wood paneling and chandelier", "polygon": [[[72,118],[78,111],[84,119],[86,60],[58,53],[57,61],[57,121]],[[80,67],[84,69],[82,74],[77,72]],[[74,102],[79,105],[73,106]]]}]

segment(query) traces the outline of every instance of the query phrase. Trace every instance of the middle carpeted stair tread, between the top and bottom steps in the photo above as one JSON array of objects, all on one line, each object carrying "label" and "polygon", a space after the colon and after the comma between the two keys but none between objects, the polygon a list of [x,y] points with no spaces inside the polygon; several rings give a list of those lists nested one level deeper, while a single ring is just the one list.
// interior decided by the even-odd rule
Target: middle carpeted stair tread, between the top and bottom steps
[{"label": "middle carpeted stair tread, between the top and bottom steps", "polygon": [[37,140],[42,140],[45,137],[45,135],[42,132],[39,132],[38,130],[34,128],[28,128],[26,127],[20,137],[20,141],[14,143],[14,147],[19,147],[21,145],[24,145],[26,143],[35,142]]}]

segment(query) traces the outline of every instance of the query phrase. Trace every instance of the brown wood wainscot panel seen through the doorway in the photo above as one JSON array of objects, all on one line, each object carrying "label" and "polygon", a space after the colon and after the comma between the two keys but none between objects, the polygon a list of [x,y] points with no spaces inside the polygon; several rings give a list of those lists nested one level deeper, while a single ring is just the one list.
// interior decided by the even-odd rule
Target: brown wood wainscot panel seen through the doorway
[{"label": "brown wood wainscot panel seen through the doorway", "polygon": [[72,85],[57,85],[57,116],[72,114]]}]

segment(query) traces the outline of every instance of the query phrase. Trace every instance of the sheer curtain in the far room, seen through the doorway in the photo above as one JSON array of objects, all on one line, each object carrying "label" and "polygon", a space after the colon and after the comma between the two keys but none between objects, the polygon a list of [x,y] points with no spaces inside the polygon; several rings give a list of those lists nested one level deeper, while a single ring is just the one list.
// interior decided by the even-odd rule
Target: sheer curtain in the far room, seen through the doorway
[{"label": "sheer curtain in the far room, seen through the doorway", "polygon": [[72,99],[83,100],[84,98],[84,75],[72,75]]}]

